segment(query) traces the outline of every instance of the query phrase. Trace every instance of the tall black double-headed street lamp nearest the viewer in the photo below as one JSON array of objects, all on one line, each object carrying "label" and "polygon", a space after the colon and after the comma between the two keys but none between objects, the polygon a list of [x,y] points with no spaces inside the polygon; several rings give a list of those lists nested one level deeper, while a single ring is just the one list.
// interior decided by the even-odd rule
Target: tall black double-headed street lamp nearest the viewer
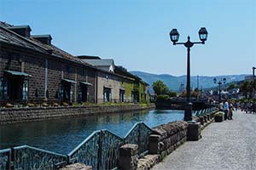
[{"label": "tall black double-headed street lamp nearest the viewer", "polygon": [[177,29],[172,29],[170,32],[170,38],[173,42],[173,45],[183,44],[188,51],[188,61],[187,61],[187,96],[186,96],[186,105],[185,105],[185,113],[184,113],[184,121],[191,121],[192,120],[192,103],[191,103],[191,96],[190,96],[190,48],[193,47],[196,43],[204,44],[207,41],[207,29],[205,27],[201,27],[200,31],[198,31],[199,38],[201,42],[190,42],[190,37],[188,37],[187,42],[177,42],[179,38],[179,34]]}]

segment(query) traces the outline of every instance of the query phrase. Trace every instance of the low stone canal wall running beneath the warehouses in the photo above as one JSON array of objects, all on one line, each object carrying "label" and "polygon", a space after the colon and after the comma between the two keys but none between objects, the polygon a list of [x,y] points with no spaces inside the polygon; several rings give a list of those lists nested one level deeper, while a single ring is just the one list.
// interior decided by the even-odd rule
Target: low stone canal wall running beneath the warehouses
[{"label": "low stone canal wall running beneath the warehouses", "polygon": [[154,109],[154,104],[148,105],[86,105],[34,108],[2,108],[0,109],[0,124],[16,122],[32,122],[72,116],[91,116],[116,112],[142,111]]}]

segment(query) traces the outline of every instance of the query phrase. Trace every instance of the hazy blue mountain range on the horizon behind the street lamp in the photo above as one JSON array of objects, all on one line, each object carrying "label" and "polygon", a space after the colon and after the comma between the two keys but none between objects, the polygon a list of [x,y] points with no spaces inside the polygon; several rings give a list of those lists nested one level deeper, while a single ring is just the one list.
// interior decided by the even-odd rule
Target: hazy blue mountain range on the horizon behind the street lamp
[{"label": "hazy blue mountain range on the horizon behind the street lamp", "polygon": [[[136,75],[137,77],[141,77],[144,82],[147,82],[150,85],[150,92],[153,92],[152,84],[153,82],[157,80],[161,80],[166,83],[167,87],[169,89],[172,89],[174,91],[178,92],[178,89],[181,85],[181,83],[184,84],[186,87],[186,80],[187,76],[180,76],[180,77],[175,77],[172,75],[168,74],[150,74],[147,72],[143,71],[131,71],[132,74]],[[242,75],[224,75],[224,76],[216,76],[216,77],[205,77],[205,76],[200,76],[199,77],[199,88],[213,88],[217,87],[218,84],[213,83],[213,78],[217,78],[217,80],[220,80],[221,78],[226,78],[226,83],[229,82],[239,82],[244,80],[244,78],[248,76],[246,74]],[[191,77],[191,88],[197,88],[197,76]]]}]

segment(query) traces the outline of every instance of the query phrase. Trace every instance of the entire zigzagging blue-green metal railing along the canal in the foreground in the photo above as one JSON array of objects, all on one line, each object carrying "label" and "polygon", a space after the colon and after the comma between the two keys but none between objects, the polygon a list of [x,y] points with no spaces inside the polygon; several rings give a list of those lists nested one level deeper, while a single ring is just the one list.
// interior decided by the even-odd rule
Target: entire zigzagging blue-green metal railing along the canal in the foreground
[{"label": "entire zigzagging blue-green metal railing along the canal in the foreground", "polygon": [[137,144],[139,155],[144,156],[148,153],[150,133],[151,129],[143,122],[137,122],[124,139],[108,130],[98,130],[67,156],[28,145],[0,150],[0,170],[51,170],[75,162],[92,166],[94,170],[117,169],[119,147],[122,144]]}]

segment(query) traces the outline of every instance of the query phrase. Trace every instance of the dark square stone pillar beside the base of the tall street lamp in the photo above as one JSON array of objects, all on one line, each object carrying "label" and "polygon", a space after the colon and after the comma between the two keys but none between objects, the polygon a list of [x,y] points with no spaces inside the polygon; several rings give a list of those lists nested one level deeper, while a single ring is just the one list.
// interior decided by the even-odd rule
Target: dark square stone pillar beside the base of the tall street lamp
[{"label": "dark square stone pillar beside the base of the tall street lamp", "polygon": [[195,141],[201,138],[200,132],[200,123],[189,123],[188,126],[188,133],[187,133],[187,140],[188,141]]}]

